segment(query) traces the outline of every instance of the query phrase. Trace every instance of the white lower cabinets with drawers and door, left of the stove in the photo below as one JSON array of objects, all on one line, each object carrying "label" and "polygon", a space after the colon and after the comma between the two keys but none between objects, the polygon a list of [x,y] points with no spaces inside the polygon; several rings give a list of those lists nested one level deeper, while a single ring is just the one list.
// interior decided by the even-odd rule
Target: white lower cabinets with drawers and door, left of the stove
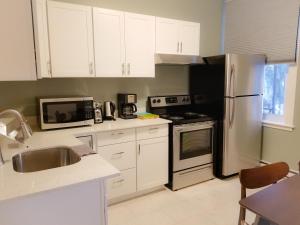
[{"label": "white lower cabinets with drawers and door, left of the stove", "polygon": [[168,124],[100,132],[97,151],[120,170],[107,180],[108,199],[168,183]]}]

